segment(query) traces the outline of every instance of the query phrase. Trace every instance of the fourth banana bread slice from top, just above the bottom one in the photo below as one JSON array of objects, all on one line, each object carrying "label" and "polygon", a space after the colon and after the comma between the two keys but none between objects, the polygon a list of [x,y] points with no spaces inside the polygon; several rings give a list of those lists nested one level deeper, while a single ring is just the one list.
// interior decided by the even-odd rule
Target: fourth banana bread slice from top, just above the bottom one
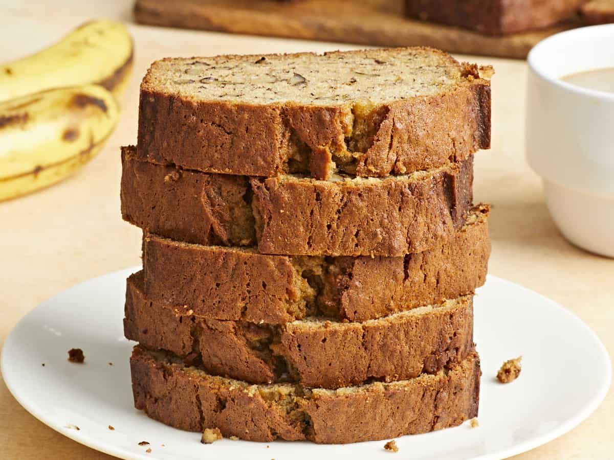
[{"label": "fourth banana bread slice from top, just above the bottom one", "polygon": [[339,388],[400,380],[454,367],[473,346],[473,296],[363,323],[313,317],[256,324],[209,320],[150,301],[139,274],[126,288],[127,339],[249,383]]}]

